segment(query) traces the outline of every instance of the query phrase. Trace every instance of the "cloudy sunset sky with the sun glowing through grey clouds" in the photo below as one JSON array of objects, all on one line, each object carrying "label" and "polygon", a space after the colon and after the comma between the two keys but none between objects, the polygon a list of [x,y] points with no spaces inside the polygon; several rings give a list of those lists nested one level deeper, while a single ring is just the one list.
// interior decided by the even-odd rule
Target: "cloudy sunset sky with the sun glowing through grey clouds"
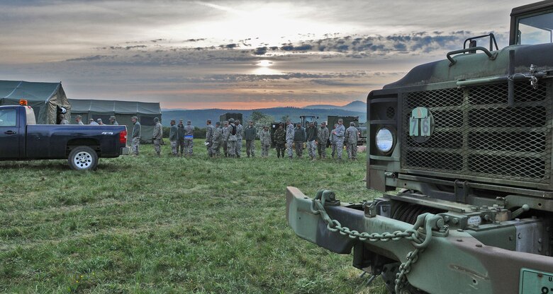
[{"label": "cloudy sunset sky with the sun glowing through grey clouds", "polygon": [[0,1],[0,80],[165,109],[345,105],[467,37],[505,47],[532,2]]}]

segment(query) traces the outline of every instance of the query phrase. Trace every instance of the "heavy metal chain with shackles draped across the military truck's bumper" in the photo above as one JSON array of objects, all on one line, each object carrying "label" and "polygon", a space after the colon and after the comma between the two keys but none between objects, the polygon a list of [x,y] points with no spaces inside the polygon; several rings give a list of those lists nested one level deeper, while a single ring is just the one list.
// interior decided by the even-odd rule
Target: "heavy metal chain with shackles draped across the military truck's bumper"
[{"label": "heavy metal chain with shackles draped across the military truck's bumper", "polygon": [[[326,228],[330,230],[330,232],[339,232],[341,235],[347,235],[352,239],[359,239],[363,242],[387,242],[390,240],[398,241],[401,239],[410,240],[412,242],[415,249],[407,254],[406,261],[399,266],[399,272],[396,274],[396,287],[394,289],[397,294],[408,293],[406,291],[403,291],[402,293],[401,290],[408,284],[407,274],[411,271],[411,266],[418,261],[420,254],[430,242],[430,237],[432,236],[432,233],[430,232],[430,230],[432,230],[430,222],[436,219],[435,216],[428,218],[428,213],[424,213],[419,216],[417,222],[413,225],[413,228],[403,232],[359,233],[357,230],[350,230],[350,228],[342,226],[339,221],[333,220],[330,216],[328,216],[328,213],[325,210],[325,201],[335,201],[334,197],[335,195],[333,192],[330,192],[329,190],[321,190],[317,193],[311,204],[311,212],[314,214],[320,214],[320,217],[323,218],[327,224]],[[420,227],[425,228],[426,237],[424,239],[420,237],[418,233],[418,228]]]}]

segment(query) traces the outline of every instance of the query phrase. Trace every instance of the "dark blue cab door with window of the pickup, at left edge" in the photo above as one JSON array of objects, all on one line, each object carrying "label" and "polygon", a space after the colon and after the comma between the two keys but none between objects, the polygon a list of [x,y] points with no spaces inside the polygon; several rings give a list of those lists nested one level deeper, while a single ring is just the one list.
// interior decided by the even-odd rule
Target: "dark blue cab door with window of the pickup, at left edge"
[{"label": "dark blue cab door with window of the pickup, at left edge", "polygon": [[19,157],[19,133],[17,110],[0,110],[0,159]]}]

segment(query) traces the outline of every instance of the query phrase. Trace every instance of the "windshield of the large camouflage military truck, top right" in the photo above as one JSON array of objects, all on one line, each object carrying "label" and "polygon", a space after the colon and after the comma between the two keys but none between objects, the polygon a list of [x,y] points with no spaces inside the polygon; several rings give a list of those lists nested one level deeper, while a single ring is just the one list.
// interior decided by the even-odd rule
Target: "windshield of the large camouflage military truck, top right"
[{"label": "windshield of the large camouflage military truck, top right", "polygon": [[535,45],[553,42],[553,11],[518,20],[517,44]]}]

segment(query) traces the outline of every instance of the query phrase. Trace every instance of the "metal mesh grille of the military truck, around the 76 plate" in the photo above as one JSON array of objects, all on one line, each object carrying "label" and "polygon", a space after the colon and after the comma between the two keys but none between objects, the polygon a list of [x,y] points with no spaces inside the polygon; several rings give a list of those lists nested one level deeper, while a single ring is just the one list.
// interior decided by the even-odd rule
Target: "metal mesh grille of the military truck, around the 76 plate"
[{"label": "metal mesh grille of the military truck, around the 76 plate", "polygon": [[[537,89],[530,82],[517,82],[513,107],[508,107],[507,83],[405,93],[401,167],[488,177],[490,182],[548,183],[551,89],[547,80]],[[409,136],[415,107],[428,108],[434,119],[432,136],[424,142]]]}]

